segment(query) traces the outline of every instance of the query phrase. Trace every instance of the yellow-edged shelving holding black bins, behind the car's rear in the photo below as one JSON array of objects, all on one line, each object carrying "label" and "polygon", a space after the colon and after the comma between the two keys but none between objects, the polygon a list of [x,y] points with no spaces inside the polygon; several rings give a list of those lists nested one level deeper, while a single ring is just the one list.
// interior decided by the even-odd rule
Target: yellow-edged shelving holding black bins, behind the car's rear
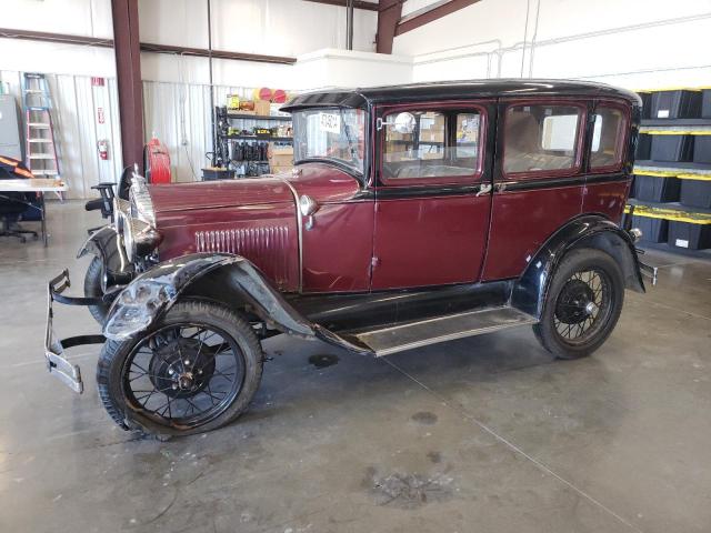
[{"label": "yellow-edged shelving holding black bins, behind the car's rear", "polygon": [[642,230],[642,248],[711,258],[711,87],[638,93],[642,122],[627,217],[632,211]]}]

